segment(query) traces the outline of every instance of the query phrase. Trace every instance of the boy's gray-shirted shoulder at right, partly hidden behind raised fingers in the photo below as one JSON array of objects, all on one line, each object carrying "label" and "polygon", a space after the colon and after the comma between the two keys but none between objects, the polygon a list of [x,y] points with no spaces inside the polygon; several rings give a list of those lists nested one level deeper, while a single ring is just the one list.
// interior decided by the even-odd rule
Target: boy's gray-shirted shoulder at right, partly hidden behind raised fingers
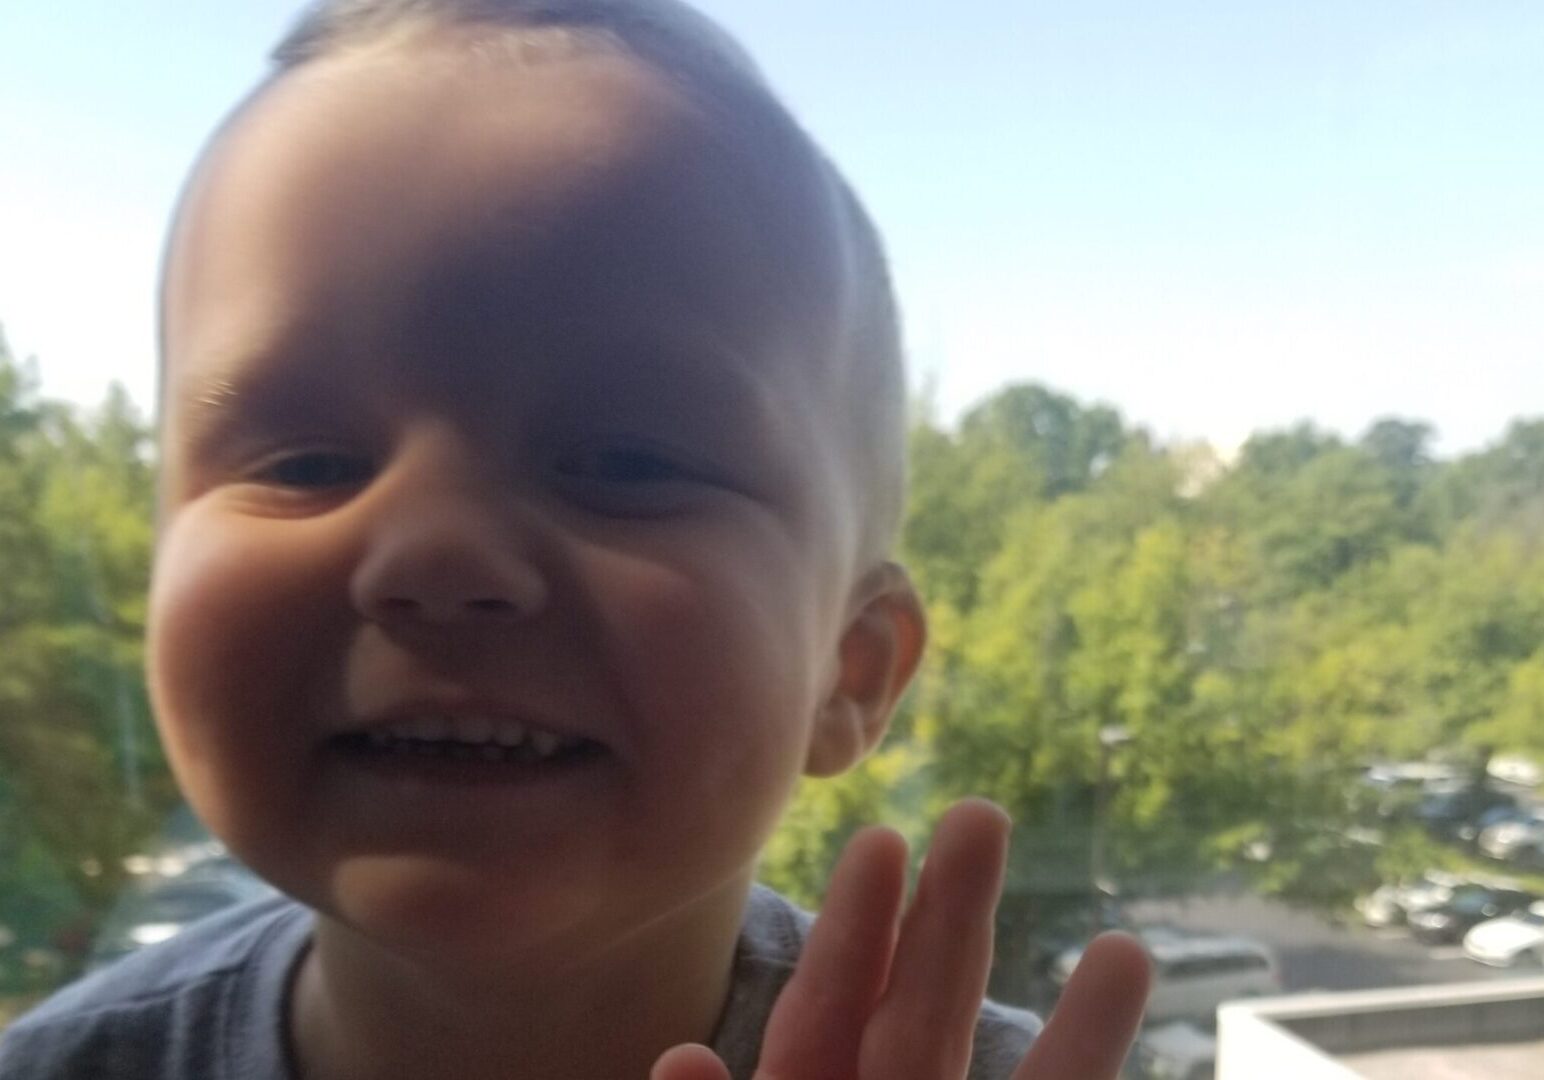
[{"label": "boy's gray-shirted shoulder at right, partly hidden behind raised fingers", "polygon": [[[766,1017],[783,983],[792,975],[814,921],[812,913],[764,885],[750,892],[735,958],[730,1007],[720,1031],[721,1041],[746,1040],[750,1035],[746,1029],[753,1027],[753,1041],[760,1046]],[[982,1001],[970,1080],[1011,1075],[1039,1031],[1041,1021],[1034,1014]]]}]

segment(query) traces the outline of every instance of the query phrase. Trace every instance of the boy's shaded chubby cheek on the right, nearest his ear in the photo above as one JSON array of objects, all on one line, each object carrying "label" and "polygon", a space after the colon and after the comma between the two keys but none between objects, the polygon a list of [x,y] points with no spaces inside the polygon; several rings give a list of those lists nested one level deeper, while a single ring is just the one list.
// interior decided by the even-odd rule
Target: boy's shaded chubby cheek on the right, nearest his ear
[{"label": "boy's shaded chubby cheek on the right, nearest his ear", "polygon": [[693,847],[753,861],[803,771],[818,705],[820,626],[801,567],[704,556],[613,570],[599,610],[639,783]]}]

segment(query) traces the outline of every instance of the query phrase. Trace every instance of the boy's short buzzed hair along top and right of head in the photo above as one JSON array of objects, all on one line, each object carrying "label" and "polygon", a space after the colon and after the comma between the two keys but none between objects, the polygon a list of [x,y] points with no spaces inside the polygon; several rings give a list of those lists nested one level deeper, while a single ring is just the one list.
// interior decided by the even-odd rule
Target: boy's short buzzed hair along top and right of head
[{"label": "boy's short buzzed hair along top and right of head", "polygon": [[755,60],[679,0],[315,0],[273,49],[275,76],[338,53],[446,28],[540,36],[573,49],[627,54],[710,114],[746,116],[800,150],[829,185],[854,283],[838,372],[848,414],[860,558],[889,553],[906,482],[906,375],[899,314],[879,230],[852,187],[778,100]]}]

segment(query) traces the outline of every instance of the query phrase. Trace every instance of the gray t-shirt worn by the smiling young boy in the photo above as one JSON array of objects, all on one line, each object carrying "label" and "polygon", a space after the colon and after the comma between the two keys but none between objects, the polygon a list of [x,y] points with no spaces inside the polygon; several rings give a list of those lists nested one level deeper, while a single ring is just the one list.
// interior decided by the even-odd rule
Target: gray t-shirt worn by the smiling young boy
[{"label": "gray t-shirt worn by the smiling young boy", "polygon": [[[757,887],[713,1049],[750,1080],[761,1029],[811,916]],[[0,1035],[0,1080],[295,1080],[284,1037],[290,975],[312,913],[286,898],[198,922],[65,987]],[[1039,1021],[985,1003],[970,1080],[1005,1080]]]}]

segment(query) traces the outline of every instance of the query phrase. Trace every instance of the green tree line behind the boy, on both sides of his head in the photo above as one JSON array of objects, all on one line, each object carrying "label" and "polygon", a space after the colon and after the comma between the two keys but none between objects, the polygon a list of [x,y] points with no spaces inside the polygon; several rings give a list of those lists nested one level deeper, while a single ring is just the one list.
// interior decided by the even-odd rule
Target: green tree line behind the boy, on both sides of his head
[{"label": "green tree line behind the boy, on both sides of his head", "polygon": [[[857,827],[920,839],[967,793],[1019,822],[1010,915],[1096,870],[1334,905],[1433,859],[1357,777],[1544,754],[1544,422],[1454,460],[1431,439],[1302,425],[1224,464],[1042,386],[919,417],[902,555],[929,657],[886,746],[801,785],[763,876],[818,902]],[[122,391],[43,400],[0,341],[0,924],[20,944],[100,912],[174,800],[141,675],[153,471]]]}]

